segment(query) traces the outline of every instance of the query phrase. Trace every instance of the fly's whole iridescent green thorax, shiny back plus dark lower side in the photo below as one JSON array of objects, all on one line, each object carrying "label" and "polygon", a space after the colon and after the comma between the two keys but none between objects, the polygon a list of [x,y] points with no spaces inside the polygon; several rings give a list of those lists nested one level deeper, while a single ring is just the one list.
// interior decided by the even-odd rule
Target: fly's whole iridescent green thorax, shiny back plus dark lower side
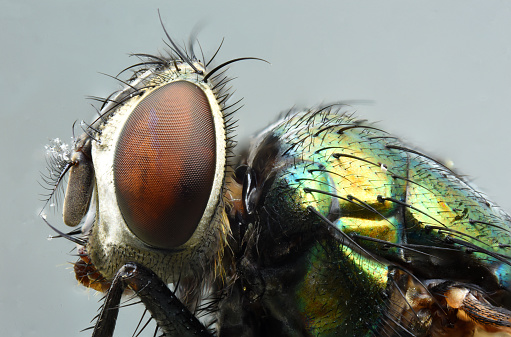
[{"label": "fly's whole iridescent green thorax, shiny back plus dark lower side", "polygon": [[[294,324],[307,334],[378,335],[399,324],[424,329],[430,309],[400,323],[413,302],[402,299],[423,291],[405,294],[407,282],[509,290],[509,216],[374,125],[331,108],[289,115],[255,139],[247,164],[261,191],[257,268],[287,268],[300,280],[267,278],[285,305],[276,304],[281,296],[263,301],[275,314],[296,313]],[[338,230],[336,240],[329,226]]]}]

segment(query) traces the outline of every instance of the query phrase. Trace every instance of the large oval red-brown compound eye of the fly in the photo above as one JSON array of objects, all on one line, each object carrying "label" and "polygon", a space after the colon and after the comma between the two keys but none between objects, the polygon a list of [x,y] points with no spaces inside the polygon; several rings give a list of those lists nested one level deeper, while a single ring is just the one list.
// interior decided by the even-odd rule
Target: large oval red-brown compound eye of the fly
[{"label": "large oval red-brown compound eye of the fly", "polygon": [[207,206],[215,161],[213,115],[202,89],[178,81],[150,93],[115,151],[115,193],[130,230],[154,247],[184,244]]}]

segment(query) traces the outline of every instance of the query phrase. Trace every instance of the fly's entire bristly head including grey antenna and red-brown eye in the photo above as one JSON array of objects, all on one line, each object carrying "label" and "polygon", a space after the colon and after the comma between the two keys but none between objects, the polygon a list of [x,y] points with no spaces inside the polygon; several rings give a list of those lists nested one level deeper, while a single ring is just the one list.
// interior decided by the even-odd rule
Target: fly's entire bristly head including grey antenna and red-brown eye
[{"label": "fly's entire bristly head including grey antenna and red-brown eye", "polygon": [[226,117],[235,104],[228,106],[229,79],[217,71],[241,59],[209,70],[169,40],[169,57],[137,55],[145,61],[102,100],[72,151],[51,147],[52,195],[68,173],[63,218],[81,225],[58,232],[78,244],[77,279],[96,290],[107,290],[127,262],[169,283],[199,284],[223,272],[223,189],[233,147]]}]

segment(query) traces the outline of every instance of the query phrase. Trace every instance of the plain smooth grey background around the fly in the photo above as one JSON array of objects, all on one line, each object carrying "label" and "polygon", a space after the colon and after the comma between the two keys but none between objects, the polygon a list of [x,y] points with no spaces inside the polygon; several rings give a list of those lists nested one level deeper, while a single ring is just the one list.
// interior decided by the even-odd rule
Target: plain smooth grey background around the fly
[{"label": "plain smooth grey background around the fly", "polygon": [[[166,28],[232,65],[239,139],[294,105],[372,100],[358,114],[471,176],[511,210],[509,1],[0,1],[2,235],[0,334],[88,336],[100,296],[77,285],[73,244],[48,241],[38,219],[48,139],[90,121],[86,95],[118,88],[115,75],[158,53]],[[59,217],[52,223],[64,228]],[[118,336],[139,311],[122,310]],[[151,336],[152,331],[145,335]]]}]

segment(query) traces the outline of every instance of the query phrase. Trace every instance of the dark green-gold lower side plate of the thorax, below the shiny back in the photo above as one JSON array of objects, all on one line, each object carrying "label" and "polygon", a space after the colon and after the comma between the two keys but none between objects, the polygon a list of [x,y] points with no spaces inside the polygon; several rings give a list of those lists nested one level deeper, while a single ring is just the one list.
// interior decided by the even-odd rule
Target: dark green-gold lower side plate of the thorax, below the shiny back
[{"label": "dark green-gold lower side plate of the thorax, below the shiny back", "polygon": [[314,245],[307,261],[296,291],[307,331],[313,336],[370,335],[385,306],[386,267],[332,242]]}]

